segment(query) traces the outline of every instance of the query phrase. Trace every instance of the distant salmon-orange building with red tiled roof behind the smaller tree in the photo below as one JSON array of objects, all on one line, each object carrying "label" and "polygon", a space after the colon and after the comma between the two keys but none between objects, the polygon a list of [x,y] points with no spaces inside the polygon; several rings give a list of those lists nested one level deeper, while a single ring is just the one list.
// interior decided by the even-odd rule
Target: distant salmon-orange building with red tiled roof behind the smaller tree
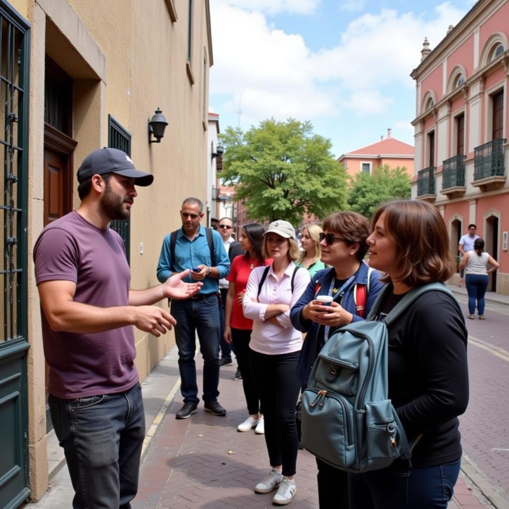
[{"label": "distant salmon-orange building with red tiled roof behind the smaller tree", "polygon": [[377,166],[385,165],[391,169],[405,167],[409,175],[414,172],[414,148],[393,138],[391,129],[387,129],[386,138],[382,137],[377,143],[343,154],[337,160],[352,177],[359,172],[371,173]]}]

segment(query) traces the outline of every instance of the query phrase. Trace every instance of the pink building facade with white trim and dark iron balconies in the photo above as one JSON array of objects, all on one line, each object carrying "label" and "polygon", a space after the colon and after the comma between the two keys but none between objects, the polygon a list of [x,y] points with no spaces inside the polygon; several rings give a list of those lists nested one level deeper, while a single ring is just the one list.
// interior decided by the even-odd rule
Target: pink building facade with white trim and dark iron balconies
[{"label": "pink building facade with white trim and dark iron balconies", "polygon": [[[509,0],[479,0],[432,50],[416,82],[412,198],[439,208],[456,256],[468,224],[500,263],[488,290],[509,295]],[[458,276],[454,276],[455,282]]]}]

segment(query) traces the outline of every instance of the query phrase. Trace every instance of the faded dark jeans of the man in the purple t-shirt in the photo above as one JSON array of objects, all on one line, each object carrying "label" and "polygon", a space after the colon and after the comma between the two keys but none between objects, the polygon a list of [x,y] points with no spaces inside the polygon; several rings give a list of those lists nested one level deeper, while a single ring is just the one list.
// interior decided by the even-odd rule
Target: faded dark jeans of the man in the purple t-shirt
[{"label": "faded dark jeans of the man in the purple t-shirt", "polygon": [[138,490],[145,413],[139,383],[125,392],[48,397],[74,488],[74,509],[130,509]]}]

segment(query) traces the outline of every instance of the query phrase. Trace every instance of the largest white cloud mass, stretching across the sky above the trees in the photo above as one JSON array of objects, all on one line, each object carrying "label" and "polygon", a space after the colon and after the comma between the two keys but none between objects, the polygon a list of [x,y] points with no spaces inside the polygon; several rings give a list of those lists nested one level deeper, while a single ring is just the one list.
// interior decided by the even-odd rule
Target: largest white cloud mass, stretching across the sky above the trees
[{"label": "largest white cloud mass, stretching across the sky above the trees", "polygon": [[[269,3],[279,10],[313,9],[318,4],[317,0],[211,0],[211,93],[219,112],[229,114],[238,110],[241,95],[243,125],[271,116],[326,118],[342,109],[385,114],[397,105],[391,95],[401,86],[414,87],[409,75],[420,62],[424,37],[435,47],[448,25],[464,15],[449,2],[436,7],[430,19],[382,9],[351,21],[337,46],[314,52],[301,35],[271,26],[261,12],[270,10]],[[252,10],[253,4],[257,10]],[[218,104],[218,94],[223,104]]]}]

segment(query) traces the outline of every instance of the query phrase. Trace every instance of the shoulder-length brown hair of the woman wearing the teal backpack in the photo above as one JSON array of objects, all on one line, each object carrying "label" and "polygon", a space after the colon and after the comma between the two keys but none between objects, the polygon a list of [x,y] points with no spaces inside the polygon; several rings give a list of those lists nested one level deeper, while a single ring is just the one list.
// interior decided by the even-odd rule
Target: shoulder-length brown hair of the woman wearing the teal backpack
[{"label": "shoulder-length brown hair of the woman wearing the teal backpack", "polygon": [[[397,280],[414,287],[445,281],[456,270],[449,250],[449,236],[438,210],[426,202],[397,200],[381,205],[373,215],[373,230],[385,212],[386,235],[396,245]],[[384,276],[381,281],[390,281]]]}]

